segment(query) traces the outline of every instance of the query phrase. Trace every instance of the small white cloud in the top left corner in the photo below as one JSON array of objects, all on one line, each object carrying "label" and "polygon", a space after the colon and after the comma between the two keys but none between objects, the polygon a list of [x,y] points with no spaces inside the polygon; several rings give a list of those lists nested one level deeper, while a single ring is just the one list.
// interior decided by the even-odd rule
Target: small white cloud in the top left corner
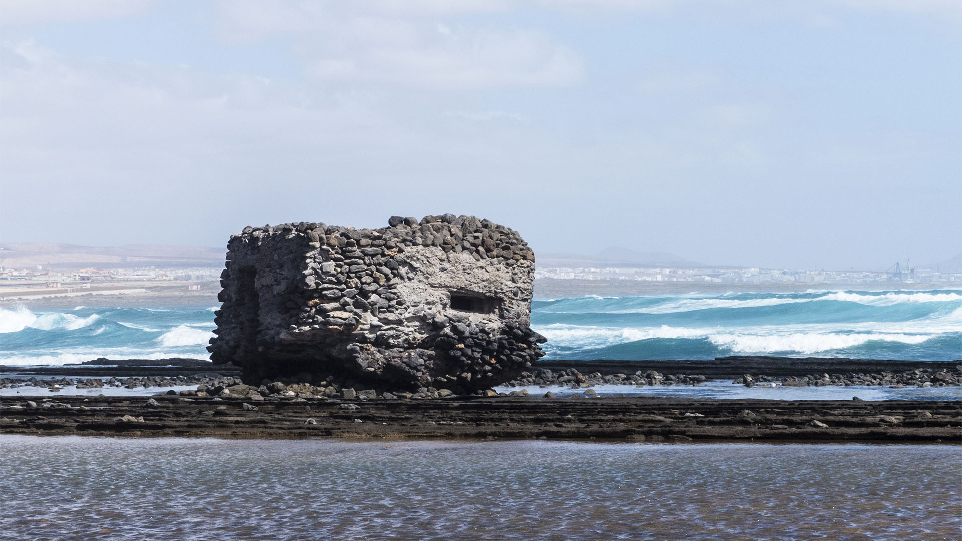
[{"label": "small white cloud in the top left corner", "polygon": [[153,0],[0,0],[0,26],[82,21],[147,13]]}]

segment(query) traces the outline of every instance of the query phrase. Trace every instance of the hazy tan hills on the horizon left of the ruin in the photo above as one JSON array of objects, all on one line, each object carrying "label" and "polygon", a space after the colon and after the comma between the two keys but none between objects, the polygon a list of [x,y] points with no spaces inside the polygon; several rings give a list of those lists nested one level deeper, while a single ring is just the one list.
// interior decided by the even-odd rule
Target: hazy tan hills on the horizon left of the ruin
[{"label": "hazy tan hills on the horizon left of the ruin", "polygon": [[86,267],[220,267],[224,248],[178,245],[80,246],[56,243],[0,243],[0,267],[54,269]]}]

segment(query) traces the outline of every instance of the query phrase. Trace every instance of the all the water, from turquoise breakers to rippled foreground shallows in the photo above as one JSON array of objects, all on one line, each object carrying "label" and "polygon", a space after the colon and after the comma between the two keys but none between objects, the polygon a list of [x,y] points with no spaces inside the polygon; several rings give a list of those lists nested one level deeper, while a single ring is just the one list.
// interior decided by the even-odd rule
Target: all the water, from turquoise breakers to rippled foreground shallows
[{"label": "all the water, from turquoise breakers to rippled foreground shallows", "polygon": [[[215,309],[0,309],[0,365],[206,358]],[[949,289],[539,298],[531,320],[557,359],[962,359],[962,291]],[[636,392],[962,399],[957,389]],[[962,539],[957,444],[0,435],[0,456],[0,541]]]}]

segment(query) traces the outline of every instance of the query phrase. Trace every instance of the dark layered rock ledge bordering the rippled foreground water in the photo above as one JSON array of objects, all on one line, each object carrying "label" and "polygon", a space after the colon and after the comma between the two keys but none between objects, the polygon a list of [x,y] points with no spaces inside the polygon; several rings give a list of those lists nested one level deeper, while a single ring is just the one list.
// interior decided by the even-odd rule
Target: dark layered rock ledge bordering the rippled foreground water
[{"label": "dark layered rock ledge bordering the rippled foreground water", "polygon": [[0,397],[0,434],[959,444],[962,402]]}]

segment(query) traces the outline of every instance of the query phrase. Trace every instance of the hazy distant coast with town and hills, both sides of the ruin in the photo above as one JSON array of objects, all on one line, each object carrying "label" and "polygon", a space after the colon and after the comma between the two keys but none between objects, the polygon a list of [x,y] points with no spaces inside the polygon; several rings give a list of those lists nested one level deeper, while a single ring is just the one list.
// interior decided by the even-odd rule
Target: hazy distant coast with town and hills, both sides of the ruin
[{"label": "hazy distant coast with town and hills, both sides of the ruin", "polygon": [[[223,249],[214,247],[0,244],[0,300],[163,294],[207,301],[220,290],[223,261]],[[962,254],[924,269],[906,261],[888,270],[798,270],[713,267],[669,253],[608,248],[594,256],[541,254],[535,278],[536,290],[550,296],[714,291],[729,284],[752,290],[833,285],[962,287]]]}]

